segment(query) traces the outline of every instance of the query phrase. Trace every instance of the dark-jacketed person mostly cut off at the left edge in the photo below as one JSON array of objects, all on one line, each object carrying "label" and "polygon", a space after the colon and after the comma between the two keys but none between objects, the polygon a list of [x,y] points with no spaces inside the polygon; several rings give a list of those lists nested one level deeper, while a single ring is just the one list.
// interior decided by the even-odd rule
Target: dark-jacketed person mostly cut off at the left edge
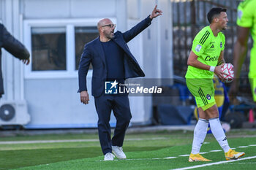
[{"label": "dark-jacketed person mostly cut off at the left edge", "polygon": [[29,60],[29,51],[26,47],[21,44],[15,37],[13,37],[10,32],[7,31],[7,28],[0,23],[0,98],[4,94],[4,83],[1,73],[1,48],[4,48],[9,53],[14,55],[16,58],[19,58],[23,61],[24,64],[28,65]]}]

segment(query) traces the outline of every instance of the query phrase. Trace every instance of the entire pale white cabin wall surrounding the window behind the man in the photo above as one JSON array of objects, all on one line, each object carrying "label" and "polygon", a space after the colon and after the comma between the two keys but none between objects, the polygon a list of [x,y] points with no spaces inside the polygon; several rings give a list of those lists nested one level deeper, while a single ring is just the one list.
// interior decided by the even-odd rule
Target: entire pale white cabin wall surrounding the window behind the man
[{"label": "entire pale white cabin wall surrounding the window behind the man", "polygon": [[[154,5],[166,10],[164,15],[153,20],[142,34],[129,42],[146,78],[172,77],[170,1],[168,0],[0,0],[0,20],[21,42],[31,42],[25,34],[29,20],[83,20],[116,18],[119,31],[127,31],[151,14]],[[96,24],[95,24],[96,26]],[[167,31],[162,31],[163,28]],[[168,39],[165,39],[165,33]],[[162,41],[162,39],[165,39]],[[28,44],[27,44],[28,45]],[[29,46],[29,45],[28,45]],[[31,49],[29,49],[31,50]],[[74,56],[75,58],[75,56]],[[3,53],[4,88],[3,99],[25,99],[31,123],[27,128],[82,128],[96,127],[97,113],[91,96],[91,81],[88,88],[90,104],[80,104],[78,74],[64,77],[24,78],[24,66],[9,53]],[[91,74],[91,73],[89,73]],[[132,123],[145,124],[151,121],[151,97],[130,97]],[[113,115],[110,124],[115,124]]]}]

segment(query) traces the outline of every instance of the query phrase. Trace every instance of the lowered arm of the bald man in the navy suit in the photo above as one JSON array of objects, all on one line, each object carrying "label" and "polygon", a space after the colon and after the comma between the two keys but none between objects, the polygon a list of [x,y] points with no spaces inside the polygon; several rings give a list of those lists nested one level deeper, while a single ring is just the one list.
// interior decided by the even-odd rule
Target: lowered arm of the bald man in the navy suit
[{"label": "lowered arm of the bald man in the navy suit", "polygon": [[91,63],[91,54],[90,54],[88,45],[85,45],[81,59],[80,59],[79,69],[78,69],[78,81],[79,81],[78,92],[80,92],[80,101],[83,104],[88,104],[88,101],[89,101],[89,95],[86,87],[86,77],[89,71],[90,63]]}]

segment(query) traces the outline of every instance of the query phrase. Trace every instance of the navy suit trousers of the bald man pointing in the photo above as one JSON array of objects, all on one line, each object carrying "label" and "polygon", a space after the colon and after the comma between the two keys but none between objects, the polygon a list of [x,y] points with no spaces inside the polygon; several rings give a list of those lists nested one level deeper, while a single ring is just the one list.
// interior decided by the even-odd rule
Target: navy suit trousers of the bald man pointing
[{"label": "navy suit trousers of the bald man pointing", "polygon": [[[108,152],[112,152],[112,146],[123,146],[125,131],[132,118],[129,109],[129,98],[128,95],[102,95],[94,98],[94,101],[99,117],[99,142],[105,155]],[[113,110],[113,114],[116,117],[116,128],[112,139],[109,124],[111,110]]]}]

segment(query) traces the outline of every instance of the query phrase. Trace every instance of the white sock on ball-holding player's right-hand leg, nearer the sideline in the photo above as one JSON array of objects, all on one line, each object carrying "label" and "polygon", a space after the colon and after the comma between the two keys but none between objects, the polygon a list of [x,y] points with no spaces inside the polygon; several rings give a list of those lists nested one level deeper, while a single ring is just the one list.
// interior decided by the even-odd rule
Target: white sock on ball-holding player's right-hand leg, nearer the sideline
[{"label": "white sock on ball-holding player's right-hand leg, nearer the sideline", "polygon": [[219,118],[213,118],[209,120],[211,126],[211,132],[214,134],[215,139],[219,142],[219,145],[222,147],[224,152],[230,150],[230,146],[227,143],[227,137],[222,129],[222,125],[219,122]]}]

